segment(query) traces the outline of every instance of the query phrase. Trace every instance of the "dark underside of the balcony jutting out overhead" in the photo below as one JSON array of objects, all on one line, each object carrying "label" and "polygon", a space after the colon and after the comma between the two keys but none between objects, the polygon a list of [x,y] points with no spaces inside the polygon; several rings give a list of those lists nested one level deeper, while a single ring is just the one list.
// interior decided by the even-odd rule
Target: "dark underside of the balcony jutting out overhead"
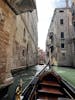
[{"label": "dark underside of the balcony jutting out overhead", "polygon": [[4,0],[16,15],[36,9],[35,0]]}]

